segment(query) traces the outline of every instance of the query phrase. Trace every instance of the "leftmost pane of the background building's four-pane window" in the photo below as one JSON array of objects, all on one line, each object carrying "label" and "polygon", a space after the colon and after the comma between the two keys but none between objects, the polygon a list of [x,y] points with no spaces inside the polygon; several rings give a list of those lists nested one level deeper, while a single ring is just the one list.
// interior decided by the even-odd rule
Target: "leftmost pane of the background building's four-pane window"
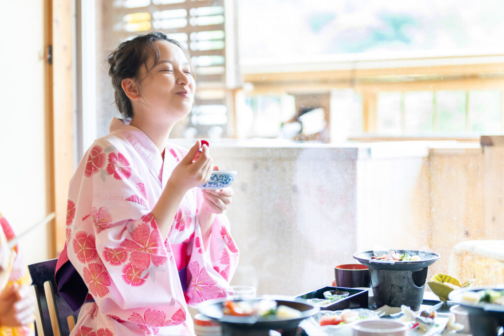
[{"label": "leftmost pane of the background building's four-pane window", "polygon": [[377,131],[384,134],[400,134],[402,131],[401,93],[380,93],[378,96],[376,116]]}]

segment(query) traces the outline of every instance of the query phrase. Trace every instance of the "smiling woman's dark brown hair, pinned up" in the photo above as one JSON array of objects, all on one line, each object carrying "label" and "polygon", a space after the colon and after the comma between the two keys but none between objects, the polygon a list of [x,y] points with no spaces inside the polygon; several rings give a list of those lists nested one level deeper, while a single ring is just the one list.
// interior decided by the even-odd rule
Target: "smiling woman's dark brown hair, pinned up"
[{"label": "smiling woman's dark brown hair, pinned up", "polygon": [[154,56],[154,65],[157,64],[160,55],[159,48],[154,42],[159,40],[173,43],[182,49],[191,66],[191,74],[194,76],[193,63],[187,49],[180,42],[170,38],[165,33],[154,31],[122,42],[117,49],[108,55],[108,64],[110,65],[108,74],[112,78],[115,104],[124,118],[133,118],[133,108],[130,98],[128,98],[122,89],[121,82],[125,78],[138,80],[140,68],[143,64],[147,63],[150,55]]}]

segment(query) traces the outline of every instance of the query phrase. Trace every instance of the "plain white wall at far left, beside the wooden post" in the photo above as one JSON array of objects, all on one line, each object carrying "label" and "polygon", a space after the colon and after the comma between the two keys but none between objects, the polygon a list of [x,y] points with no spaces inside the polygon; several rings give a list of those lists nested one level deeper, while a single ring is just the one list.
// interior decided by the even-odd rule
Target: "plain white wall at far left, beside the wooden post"
[{"label": "plain white wall at far left, beside the wooden post", "polygon": [[[0,212],[21,233],[49,212],[42,1],[0,2]],[[49,226],[21,241],[27,263],[49,258]]]}]

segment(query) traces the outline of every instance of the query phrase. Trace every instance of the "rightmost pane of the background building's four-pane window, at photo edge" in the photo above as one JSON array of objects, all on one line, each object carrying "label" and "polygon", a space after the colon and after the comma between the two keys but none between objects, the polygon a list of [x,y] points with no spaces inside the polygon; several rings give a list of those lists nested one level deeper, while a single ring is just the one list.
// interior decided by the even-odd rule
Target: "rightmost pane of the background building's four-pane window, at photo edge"
[{"label": "rightmost pane of the background building's four-pane window, at photo edge", "polygon": [[486,132],[501,130],[499,91],[471,91],[469,115],[471,130]]}]

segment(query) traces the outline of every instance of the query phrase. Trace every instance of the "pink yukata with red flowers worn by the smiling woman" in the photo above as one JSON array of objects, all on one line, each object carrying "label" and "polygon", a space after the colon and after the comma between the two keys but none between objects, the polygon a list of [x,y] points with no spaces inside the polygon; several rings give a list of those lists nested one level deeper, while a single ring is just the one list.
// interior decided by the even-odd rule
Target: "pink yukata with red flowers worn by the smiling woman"
[{"label": "pink yukata with red flowers worn by the smiling woman", "polygon": [[[216,216],[205,250],[201,190],[187,191],[165,242],[151,214],[186,152],[167,146],[163,162],[142,130],[113,119],[85,154],[70,183],[66,248],[95,302],[81,307],[72,335],[192,335],[187,304],[225,296],[238,262],[225,215]],[[171,248],[181,243],[182,261]]]}]

